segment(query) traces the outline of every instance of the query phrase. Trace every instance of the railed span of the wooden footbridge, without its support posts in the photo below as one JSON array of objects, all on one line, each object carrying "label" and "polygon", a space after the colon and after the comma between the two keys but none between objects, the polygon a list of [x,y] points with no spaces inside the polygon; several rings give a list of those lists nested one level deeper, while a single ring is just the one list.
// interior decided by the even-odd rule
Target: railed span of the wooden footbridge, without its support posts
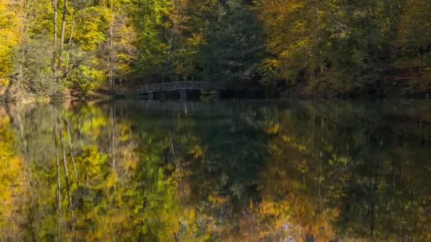
[{"label": "railed span of the wooden footbridge, without its support posts", "polygon": [[136,90],[140,93],[150,93],[157,91],[179,91],[179,90],[245,90],[259,91],[260,88],[252,86],[243,86],[239,84],[219,84],[211,81],[174,81],[165,83],[150,83],[136,86]]}]

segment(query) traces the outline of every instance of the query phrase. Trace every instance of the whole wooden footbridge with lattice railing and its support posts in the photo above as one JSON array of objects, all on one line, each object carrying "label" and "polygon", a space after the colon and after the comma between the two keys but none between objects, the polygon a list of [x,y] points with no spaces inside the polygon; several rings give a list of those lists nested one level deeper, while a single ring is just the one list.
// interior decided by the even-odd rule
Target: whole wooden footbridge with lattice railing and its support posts
[{"label": "whole wooden footbridge with lattice railing and its support posts", "polygon": [[164,83],[149,83],[136,86],[138,93],[146,95],[148,100],[153,100],[153,93],[165,91],[179,91],[181,100],[187,99],[186,91],[215,91],[215,98],[220,98],[220,90],[235,90],[235,91],[261,91],[261,88],[253,86],[240,85],[239,83],[214,83],[212,81],[174,81]]}]

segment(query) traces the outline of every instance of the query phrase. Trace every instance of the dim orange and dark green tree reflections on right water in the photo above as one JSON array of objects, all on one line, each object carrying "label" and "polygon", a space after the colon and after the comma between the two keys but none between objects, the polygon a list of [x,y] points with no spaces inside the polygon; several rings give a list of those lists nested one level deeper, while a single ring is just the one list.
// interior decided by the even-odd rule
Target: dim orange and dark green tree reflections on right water
[{"label": "dim orange and dark green tree reflections on right water", "polygon": [[[430,122],[418,123],[430,119],[430,110],[424,111],[398,113],[385,104],[352,108],[349,103],[302,103],[270,118],[275,119],[267,128],[274,134],[269,142],[272,155],[261,175],[264,202],[257,211],[284,223],[272,219],[274,224],[266,229],[299,225],[300,236],[322,241],[335,234],[427,238],[425,201],[430,192],[424,178],[430,173],[431,154],[417,148],[430,146],[430,140],[424,140],[430,137]],[[400,127],[396,117],[405,113],[409,117],[402,118]],[[419,176],[408,175],[405,167]],[[419,167],[425,172],[419,174]],[[267,212],[268,206],[285,209],[289,217]]]}]

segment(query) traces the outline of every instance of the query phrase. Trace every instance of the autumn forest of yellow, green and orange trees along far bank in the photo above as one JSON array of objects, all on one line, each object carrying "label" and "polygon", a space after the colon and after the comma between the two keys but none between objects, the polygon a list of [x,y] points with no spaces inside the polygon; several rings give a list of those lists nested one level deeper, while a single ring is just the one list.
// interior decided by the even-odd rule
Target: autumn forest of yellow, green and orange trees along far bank
[{"label": "autumn forest of yellow, green and orange trees along far bank", "polygon": [[183,80],[264,86],[274,97],[425,96],[431,4],[0,0],[2,100]]}]

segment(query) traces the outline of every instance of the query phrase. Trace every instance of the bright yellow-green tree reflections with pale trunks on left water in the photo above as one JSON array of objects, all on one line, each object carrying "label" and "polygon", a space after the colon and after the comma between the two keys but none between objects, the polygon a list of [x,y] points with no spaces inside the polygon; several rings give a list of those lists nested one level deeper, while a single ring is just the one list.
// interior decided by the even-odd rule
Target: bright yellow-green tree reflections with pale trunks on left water
[{"label": "bright yellow-green tree reflections with pale trunks on left water", "polygon": [[[11,160],[12,156],[22,156],[30,164],[30,183],[37,199],[18,202],[24,211],[29,210],[28,214],[20,211],[21,216],[30,218],[27,223],[15,224],[14,227],[2,225],[2,231],[15,228],[16,234],[9,233],[11,238],[24,236],[45,240],[57,237],[56,224],[60,222],[61,236],[67,240],[75,236],[89,241],[112,238],[163,241],[174,237],[205,237],[202,228],[208,222],[198,224],[201,217],[194,207],[184,208],[177,202],[181,173],[167,161],[167,132],[158,132],[157,129],[146,132],[145,125],[132,127],[122,112],[121,108],[98,108],[96,105],[76,105],[67,109],[44,105],[11,108],[9,115],[13,124],[9,125],[9,116],[5,115],[8,119],[2,120],[5,125],[1,126],[5,132],[0,133],[1,142],[9,142],[10,148],[2,149],[2,152],[8,152],[5,159],[16,161],[13,166],[18,170],[23,169],[21,159]],[[67,209],[68,186],[63,169],[60,171],[62,209],[60,219],[57,219],[57,168],[52,139],[56,117],[60,117],[64,126],[60,136],[64,144],[59,146],[59,150],[63,157],[62,148],[65,148],[69,171],[74,171],[70,149],[66,145],[69,138],[74,147],[79,178],[69,175],[69,183],[75,219]],[[40,120],[40,124],[35,125],[35,120]],[[65,128],[65,120],[70,125],[71,137]],[[60,129],[57,134],[59,132]],[[13,142],[18,149],[12,146]],[[11,169],[10,161],[2,163],[1,172],[18,173]],[[22,170],[19,171],[22,174]],[[9,176],[4,177],[9,179]],[[12,192],[9,183],[4,184],[4,190]],[[18,218],[12,213],[15,211],[12,207],[7,211],[11,212],[9,219]],[[2,221],[8,221],[6,215],[5,219],[2,216]]]}]

